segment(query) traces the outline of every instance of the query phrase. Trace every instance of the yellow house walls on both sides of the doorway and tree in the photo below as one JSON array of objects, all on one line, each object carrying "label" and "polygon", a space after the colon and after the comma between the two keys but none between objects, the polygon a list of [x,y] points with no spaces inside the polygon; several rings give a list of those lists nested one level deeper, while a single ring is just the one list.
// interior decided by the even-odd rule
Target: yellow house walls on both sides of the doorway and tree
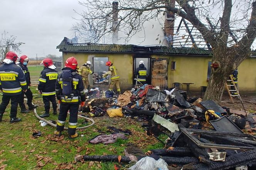
[{"label": "yellow house walls on both sides of the doorway and tree", "polygon": [[[113,53],[65,53],[63,60],[74,56],[79,66],[92,57],[108,57],[118,69],[121,90],[130,89],[133,83],[133,54]],[[151,55],[152,58],[167,58],[168,63],[168,88],[172,83],[194,83],[190,90],[200,91],[200,86],[207,86],[207,67],[210,57],[193,57],[182,55]],[[92,61],[92,60],[91,60]],[[171,62],[176,62],[175,70],[171,70]],[[64,63],[64,62],[63,62]],[[238,84],[241,92],[255,92],[256,90],[256,58],[247,58],[238,68]],[[186,85],[183,84],[183,89]]]}]

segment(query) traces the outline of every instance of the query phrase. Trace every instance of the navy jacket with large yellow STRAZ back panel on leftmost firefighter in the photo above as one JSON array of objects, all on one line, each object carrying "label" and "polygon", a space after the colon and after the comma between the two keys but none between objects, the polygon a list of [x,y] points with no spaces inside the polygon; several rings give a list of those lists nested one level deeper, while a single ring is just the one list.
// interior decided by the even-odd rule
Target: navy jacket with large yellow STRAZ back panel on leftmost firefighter
[{"label": "navy jacket with large yellow STRAZ back panel on leftmost firefighter", "polygon": [[15,62],[0,66],[0,89],[9,96],[20,95],[21,90],[27,90],[24,72]]}]

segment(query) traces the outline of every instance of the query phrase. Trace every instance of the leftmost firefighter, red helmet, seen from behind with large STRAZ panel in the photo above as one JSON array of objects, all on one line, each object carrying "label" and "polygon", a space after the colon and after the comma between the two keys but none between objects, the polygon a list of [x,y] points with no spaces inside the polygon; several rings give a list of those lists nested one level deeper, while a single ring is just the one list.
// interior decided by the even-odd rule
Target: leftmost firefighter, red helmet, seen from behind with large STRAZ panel
[{"label": "leftmost firefighter, red helmet, seen from behind with large STRAZ panel", "polygon": [[17,107],[22,90],[27,91],[27,82],[22,69],[15,64],[18,56],[14,52],[8,52],[3,64],[0,66],[0,89],[3,92],[0,105],[0,122],[3,113],[11,100],[10,123],[19,122]]}]

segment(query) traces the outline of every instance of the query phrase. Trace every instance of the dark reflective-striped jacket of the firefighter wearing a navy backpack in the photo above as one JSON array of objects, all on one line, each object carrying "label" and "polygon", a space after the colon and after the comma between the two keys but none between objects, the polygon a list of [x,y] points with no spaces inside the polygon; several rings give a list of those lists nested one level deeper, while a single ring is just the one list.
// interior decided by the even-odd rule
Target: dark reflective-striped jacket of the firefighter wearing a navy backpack
[{"label": "dark reflective-striped jacket of the firefighter wearing a navy backpack", "polygon": [[62,103],[80,103],[81,101],[85,101],[85,92],[82,77],[76,72],[76,70],[72,70],[71,68],[64,67],[62,70],[71,70],[72,72],[72,98],[65,98],[62,96],[62,73],[58,75],[56,81],[56,96],[58,100],[61,100]]}]

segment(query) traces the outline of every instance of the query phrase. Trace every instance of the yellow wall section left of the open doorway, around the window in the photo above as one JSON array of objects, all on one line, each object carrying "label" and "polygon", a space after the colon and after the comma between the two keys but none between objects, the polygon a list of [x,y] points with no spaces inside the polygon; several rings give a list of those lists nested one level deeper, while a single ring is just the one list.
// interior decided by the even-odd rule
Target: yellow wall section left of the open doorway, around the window
[{"label": "yellow wall section left of the open doorway, around the window", "polygon": [[[108,57],[108,60],[115,65],[117,73],[120,76],[120,87],[123,89],[131,89],[133,85],[133,56],[131,54],[113,54],[113,53],[62,53],[63,61],[74,56],[78,61],[78,65],[83,65],[89,58],[92,62],[93,57]],[[64,62],[63,62],[64,63]],[[90,79],[90,77],[89,77]],[[92,81],[90,81],[92,85]],[[116,90],[116,89],[114,89]]]}]

